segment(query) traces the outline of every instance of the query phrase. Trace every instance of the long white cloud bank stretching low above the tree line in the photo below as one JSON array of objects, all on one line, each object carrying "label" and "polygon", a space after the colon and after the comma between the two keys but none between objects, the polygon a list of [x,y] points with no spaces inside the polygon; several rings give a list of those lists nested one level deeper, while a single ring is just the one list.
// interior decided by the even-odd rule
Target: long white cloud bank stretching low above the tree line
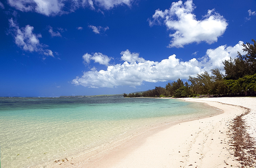
[{"label": "long white cloud bank stretching low above the tree line", "polygon": [[[176,55],[170,55],[161,62],[144,60],[138,53],[130,53],[129,50],[122,51],[122,57],[125,54],[133,54],[131,58],[125,60],[122,64],[108,66],[106,70],[97,71],[95,68],[91,71],[83,72],[81,77],[72,80],[75,85],[85,87],[114,87],[120,85],[138,86],[146,82],[160,82],[167,80],[188,79],[188,76],[196,76],[197,73],[209,71],[210,69],[223,69],[222,61],[230,57],[237,56],[237,51],[242,52],[243,42],[239,41],[235,46],[219,46],[215,49],[208,49],[203,58],[193,58],[188,61],[180,61]],[[86,55],[86,54],[85,54]],[[84,57],[84,61],[90,58],[90,54]],[[121,58],[122,58],[121,57]],[[130,63],[127,61],[130,59]],[[143,62],[135,62],[143,59]]]}]

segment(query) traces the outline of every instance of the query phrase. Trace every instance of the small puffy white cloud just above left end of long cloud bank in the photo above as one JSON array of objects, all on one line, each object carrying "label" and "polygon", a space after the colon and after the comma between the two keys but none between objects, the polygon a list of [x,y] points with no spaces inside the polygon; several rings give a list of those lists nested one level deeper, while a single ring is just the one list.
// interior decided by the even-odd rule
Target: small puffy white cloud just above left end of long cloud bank
[{"label": "small puffy white cloud just above left end of long cloud bank", "polygon": [[93,55],[91,54],[84,54],[83,55],[83,62],[84,64],[89,64],[91,60],[93,60],[95,63],[99,63],[101,65],[109,65],[109,62],[113,59],[112,57],[108,57],[107,55],[104,55],[100,52],[95,52]]}]

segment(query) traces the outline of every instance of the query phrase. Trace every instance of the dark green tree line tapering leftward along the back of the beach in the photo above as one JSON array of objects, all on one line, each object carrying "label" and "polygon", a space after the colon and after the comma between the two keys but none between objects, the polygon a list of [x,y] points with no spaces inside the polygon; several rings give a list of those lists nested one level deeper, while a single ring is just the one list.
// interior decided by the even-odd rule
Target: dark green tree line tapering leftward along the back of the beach
[{"label": "dark green tree line tapering leftward along the back of the beach", "polygon": [[238,52],[236,58],[223,61],[223,69],[211,69],[208,72],[189,76],[188,82],[177,79],[168,82],[165,87],[155,86],[154,89],[142,94],[123,94],[124,97],[195,97],[199,95],[228,96],[228,95],[255,95],[256,93],[256,41],[253,44],[242,44],[242,55]]}]

